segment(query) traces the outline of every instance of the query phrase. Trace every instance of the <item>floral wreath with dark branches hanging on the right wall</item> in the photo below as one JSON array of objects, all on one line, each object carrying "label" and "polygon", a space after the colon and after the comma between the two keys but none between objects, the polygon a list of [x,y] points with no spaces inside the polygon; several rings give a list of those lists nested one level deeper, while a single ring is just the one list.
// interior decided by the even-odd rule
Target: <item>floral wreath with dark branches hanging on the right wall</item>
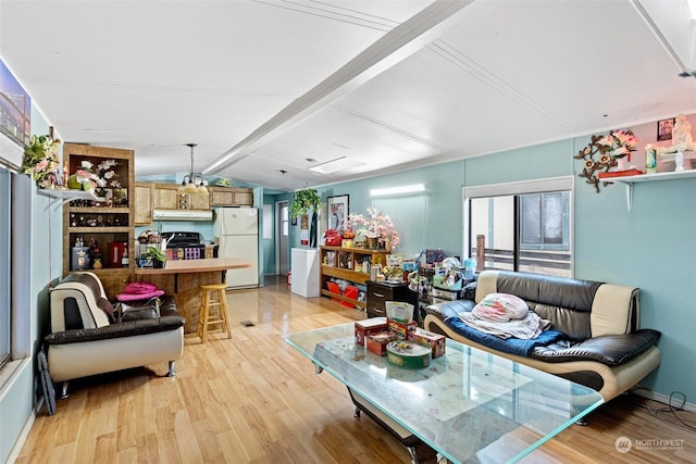
[{"label": "floral wreath with dark branches hanging on the right wall", "polygon": [[[595,187],[599,193],[599,175],[608,173],[618,165],[618,161],[636,150],[638,139],[631,130],[614,130],[606,136],[592,136],[592,141],[583,150],[580,150],[575,160],[584,160],[583,172],[577,177],[583,177],[587,184]],[[597,156],[597,158],[595,158]],[[613,184],[601,181],[606,187]]]}]

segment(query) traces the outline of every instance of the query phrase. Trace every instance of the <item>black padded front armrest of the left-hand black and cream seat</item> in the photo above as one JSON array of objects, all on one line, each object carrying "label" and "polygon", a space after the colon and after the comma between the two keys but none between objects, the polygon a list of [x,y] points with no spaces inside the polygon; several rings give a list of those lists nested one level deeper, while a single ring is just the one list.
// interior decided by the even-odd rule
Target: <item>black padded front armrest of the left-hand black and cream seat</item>
[{"label": "black padded front armrest of the left-hand black and cream seat", "polygon": [[139,335],[176,330],[183,326],[184,317],[178,315],[165,315],[156,318],[111,324],[104,327],[57,331],[47,335],[44,340],[48,344],[78,343],[84,341],[135,337]]}]

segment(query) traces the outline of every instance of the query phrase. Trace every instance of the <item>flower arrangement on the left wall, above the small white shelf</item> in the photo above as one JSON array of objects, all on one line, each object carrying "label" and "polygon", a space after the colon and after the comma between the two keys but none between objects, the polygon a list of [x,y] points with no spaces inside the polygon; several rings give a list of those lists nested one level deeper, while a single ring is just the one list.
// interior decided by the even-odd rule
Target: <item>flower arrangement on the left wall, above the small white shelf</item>
[{"label": "flower arrangement on the left wall, above the small white shelf", "polygon": [[37,187],[51,188],[62,184],[61,174],[58,172],[60,146],[60,139],[53,140],[50,136],[32,136],[29,146],[24,150],[21,172],[32,176]]}]

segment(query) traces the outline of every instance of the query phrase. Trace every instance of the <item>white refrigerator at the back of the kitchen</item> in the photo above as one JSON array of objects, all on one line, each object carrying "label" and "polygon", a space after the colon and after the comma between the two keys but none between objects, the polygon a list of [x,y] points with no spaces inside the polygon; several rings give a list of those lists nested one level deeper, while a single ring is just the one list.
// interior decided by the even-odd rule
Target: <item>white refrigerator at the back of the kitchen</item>
[{"label": "white refrigerator at the back of the kitchen", "polygon": [[259,286],[259,210],[216,208],[213,235],[219,258],[239,258],[251,267],[227,271],[227,288]]}]

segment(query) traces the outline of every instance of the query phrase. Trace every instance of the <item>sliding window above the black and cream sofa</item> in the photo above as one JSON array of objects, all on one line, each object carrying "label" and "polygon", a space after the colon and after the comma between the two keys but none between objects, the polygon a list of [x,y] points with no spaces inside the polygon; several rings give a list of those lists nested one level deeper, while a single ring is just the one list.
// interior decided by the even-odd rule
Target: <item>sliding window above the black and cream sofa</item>
[{"label": "sliding window above the black and cream sofa", "polygon": [[465,188],[463,248],[478,268],[571,277],[572,181]]}]

